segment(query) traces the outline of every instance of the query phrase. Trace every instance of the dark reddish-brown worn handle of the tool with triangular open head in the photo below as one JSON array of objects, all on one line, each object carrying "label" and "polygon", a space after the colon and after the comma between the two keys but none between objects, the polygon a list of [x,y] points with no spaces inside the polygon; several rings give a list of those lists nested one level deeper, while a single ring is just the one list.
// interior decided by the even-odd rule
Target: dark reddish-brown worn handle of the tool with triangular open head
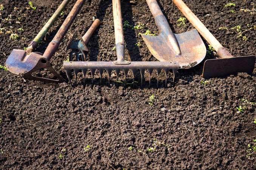
[{"label": "dark reddish-brown worn handle of the tool with triangular open head", "polygon": [[76,18],[78,12],[83,6],[83,3],[85,3],[85,0],[77,0],[73,8],[68,14],[68,17],[63,22],[62,26],[52,39],[51,43],[49,43],[48,47],[45,50],[45,53],[43,53],[43,57],[46,60],[50,60],[54,53],[57,51],[62,39],[64,38],[66,32],[68,31],[69,27],[73,23],[74,19]]}]

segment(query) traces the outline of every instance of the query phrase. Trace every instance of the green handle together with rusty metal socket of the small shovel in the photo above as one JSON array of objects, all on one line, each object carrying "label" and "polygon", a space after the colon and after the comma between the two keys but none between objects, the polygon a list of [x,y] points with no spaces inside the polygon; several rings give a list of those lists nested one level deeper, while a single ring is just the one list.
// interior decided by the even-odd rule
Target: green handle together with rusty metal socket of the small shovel
[{"label": "green handle together with rusty metal socket of the small shovel", "polygon": [[57,8],[57,10],[54,12],[54,14],[51,16],[51,18],[47,21],[45,26],[40,30],[40,32],[35,36],[33,41],[29,44],[28,48],[26,49],[26,53],[30,54],[36,47],[37,44],[43,39],[45,34],[48,32],[52,24],[57,20],[57,18],[60,16],[61,12],[66,8],[70,0],[63,0],[60,6]]}]

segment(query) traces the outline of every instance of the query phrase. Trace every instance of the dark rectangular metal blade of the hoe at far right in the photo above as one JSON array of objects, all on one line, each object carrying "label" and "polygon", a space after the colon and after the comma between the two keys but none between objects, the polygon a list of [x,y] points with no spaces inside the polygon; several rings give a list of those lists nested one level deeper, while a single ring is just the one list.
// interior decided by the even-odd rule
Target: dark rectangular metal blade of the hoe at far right
[{"label": "dark rectangular metal blade of the hoe at far right", "polygon": [[253,73],[255,56],[209,59],[204,63],[203,77],[224,77],[236,73]]}]

